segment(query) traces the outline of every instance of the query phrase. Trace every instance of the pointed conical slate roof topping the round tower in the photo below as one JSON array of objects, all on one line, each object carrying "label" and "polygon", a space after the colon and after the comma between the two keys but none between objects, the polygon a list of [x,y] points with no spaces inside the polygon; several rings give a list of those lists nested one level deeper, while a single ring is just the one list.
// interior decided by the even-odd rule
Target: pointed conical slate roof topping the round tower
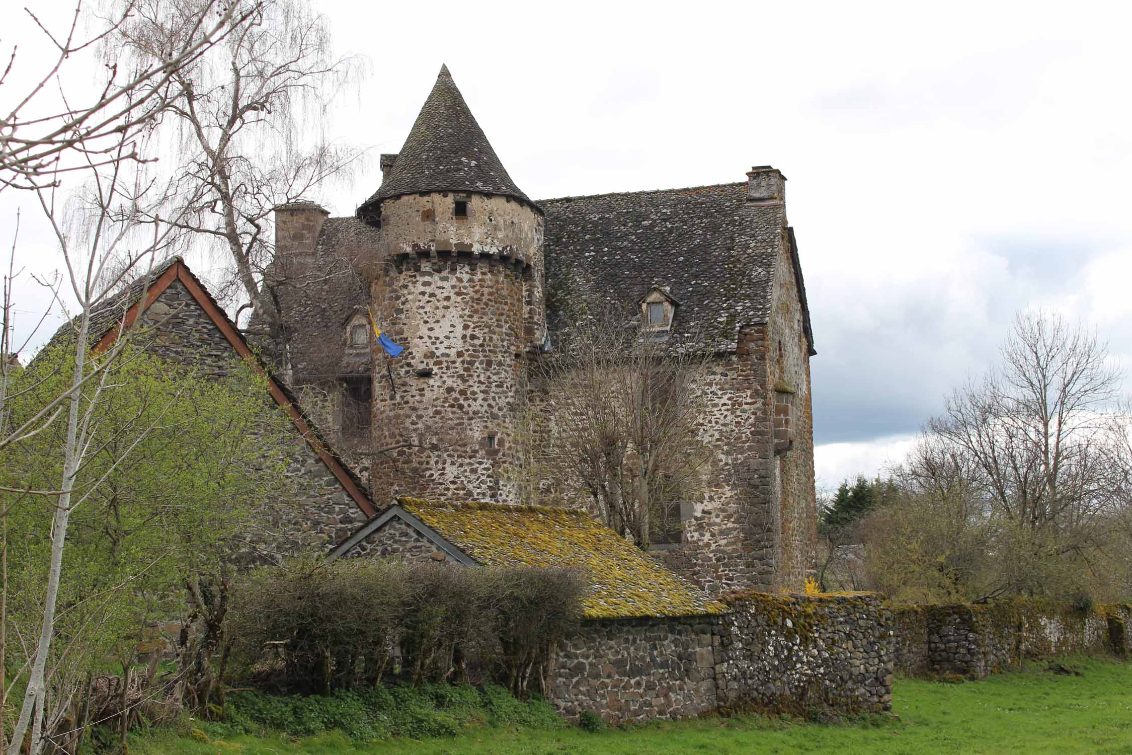
[{"label": "pointed conical slate roof topping the round tower", "polygon": [[447,66],[440,67],[381,187],[358,208],[358,215],[371,215],[383,199],[419,191],[478,191],[531,201],[499,162]]}]

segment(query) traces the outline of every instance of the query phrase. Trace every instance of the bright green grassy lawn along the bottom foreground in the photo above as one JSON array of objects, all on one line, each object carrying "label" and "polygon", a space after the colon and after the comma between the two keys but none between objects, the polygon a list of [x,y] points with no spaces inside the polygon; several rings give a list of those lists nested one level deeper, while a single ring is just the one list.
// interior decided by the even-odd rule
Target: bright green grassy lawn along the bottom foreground
[{"label": "bright green grassy lawn along the bottom foreground", "polygon": [[984,681],[940,684],[898,679],[893,713],[851,724],[811,724],[760,717],[652,723],[590,733],[581,729],[482,727],[451,739],[359,743],[340,733],[301,740],[232,737],[209,743],[172,733],[138,739],[132,755],[284,755],[371,753],[414,755],[620,755],[636,753],[1052,753],[1132,755],[1132,663],[1064,661],[1081,676],[1044,663]]}]

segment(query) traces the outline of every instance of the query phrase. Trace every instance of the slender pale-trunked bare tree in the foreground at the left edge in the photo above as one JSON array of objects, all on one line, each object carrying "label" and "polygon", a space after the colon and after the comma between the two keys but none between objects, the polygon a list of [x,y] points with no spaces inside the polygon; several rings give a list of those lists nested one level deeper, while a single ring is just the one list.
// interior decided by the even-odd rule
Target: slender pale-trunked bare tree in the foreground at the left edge
[{"label": "slender pale-trunked bare tree in the foreground at the left edge", "polygon": [[[149,65],[128,72],[110,65],[95,96],[85,100],[85,104],[72,105],[71,98],[62,93],[61,109],[52,112],[45,93],[60,68],[69,60],[84,59],[80,53],[92,52],[93,45],[122,28],[135,10],[136,5],[128,3],[122,14],[108,20],[100,33],[84,42],[76,38],[80,6],[76,8],[76,18],[65,35],[52,35],[41,26],[57,50],[54,66],[8,110],[9,114],[0,122],[0,187],[28,189],[35,194],[43,218],[59,244],[63,280],[77,301],[78,310],[69,326],[75,357],[70,362],[72,367],[66,378],[66,388],[42,396],[42,400],[33,402],[31,410],[11,418],[8,410],[12,402],[36,396],[44,383],[33,381],[32,385],[22,385],[19,391],[11,389],[8,379],[10,302],[7,297],[5,302],[5,353],[0,354],[5,360],[3,378],[0,380],[0,417],[5,418],[5,424],[0,454],[10,461],[15,451],[31,441],[38,441],[49,432],[60,438],[52,452],[58,453],[60,469],[58,483],[51,486],[53,489],[20,484],[18,479],[11,477],[11,467],[6,465],[8,473],[0,490],[6,522],[12,507],[28,499],[45,501],[51,511],[50,535],[44,541],[50,550],[46,574],[43,583],[37,585],[42,587],[42,593],[31,585],[22,590],[28,599],[34,592],[41,611],[35,636],[20,638],[26,662],[18,669],[16,678],[24,681],[25,692],[12,727],[12,738],[7,745],[10,755],[22,752],[37,755],[43,752],[76,693],[74,688],[49,688],[49,679],[58,668],[54,663],[49,667],[49,661],[57,634],[63,552],[69,542],[74,512],[97,489],[98,481],[85,489],[77,489],[76,481],[84,463],[100,451],[94,441],[98,406],[115,388],[111,380],[113,366],[125,352],[132,333],[132,328],[120,328],[113,343],[97,359],[92,359],[95,317],[101,312],[113,318],[117,307],[113,291],[120,277],[138,267],[151,267],[155,256],[168,249],[179,233],[175,216],[171,217],[172,223],[152,223],[145,237],[138,233],[140,221],[155,217],[156,209],[166,206],[170,198],[169,186],[155,181],[146,170],[147,163],[155,156],[151,148],[151,126],[171,98],[180,96],[171,89],[172,75],[215,45],[228,25],[239,20],[242,12],[250,12],[249,8],[211,1],[199,3],[196,14],[183,19],[185,33],[177,43],[162,49]],[[89,60],[88,57],[86,59]],[[5,77],[12,70],[15,61],[14,51]],[[25,118],[24,112],[51,114]],[[68,195],[62,194],[61,187],[68,175],[82,178],[84,183],[65,201]],[[125,264],[120,264],[122,259]],[[110,470],[117,469],[151,429],[132,428],[128,439],[120,438],[123,446]],[[3,587],[7,599],[8,585]],[[0,663],[5,660],[0,659]],[[9,681],[5,693],[10,690],[12,684],[15,679]]]}]

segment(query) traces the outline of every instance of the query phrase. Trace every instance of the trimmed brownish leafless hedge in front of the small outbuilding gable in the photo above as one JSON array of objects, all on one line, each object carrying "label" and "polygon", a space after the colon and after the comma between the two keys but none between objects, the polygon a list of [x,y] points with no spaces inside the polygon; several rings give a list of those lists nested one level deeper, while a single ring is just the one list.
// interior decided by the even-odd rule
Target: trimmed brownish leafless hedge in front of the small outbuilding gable
[{"label": "trimmed brownish leafless hedge in front of the small outbuilding gable", "polygon": [[584,590],[566,569],[297,559],[234,585],[231,668],[301,693],[471,679],[525,697],[544,693]]}]

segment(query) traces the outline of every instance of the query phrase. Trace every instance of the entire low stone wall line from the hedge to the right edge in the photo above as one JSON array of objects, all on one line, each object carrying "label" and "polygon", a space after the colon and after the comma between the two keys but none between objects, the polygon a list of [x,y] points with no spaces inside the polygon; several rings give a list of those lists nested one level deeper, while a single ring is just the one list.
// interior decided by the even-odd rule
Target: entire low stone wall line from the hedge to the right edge
[{"label": "entire low stone wall line from the hedge to the right edge", "polygon": [[550,700],[610,723],[757,710],[892,707],[892,676],[980,679],[1027,658],[1132,654],[1132,604],[1041,600],[889,606],[873,593],[738,592],[728,612],[583,623],[559,647]]}]

